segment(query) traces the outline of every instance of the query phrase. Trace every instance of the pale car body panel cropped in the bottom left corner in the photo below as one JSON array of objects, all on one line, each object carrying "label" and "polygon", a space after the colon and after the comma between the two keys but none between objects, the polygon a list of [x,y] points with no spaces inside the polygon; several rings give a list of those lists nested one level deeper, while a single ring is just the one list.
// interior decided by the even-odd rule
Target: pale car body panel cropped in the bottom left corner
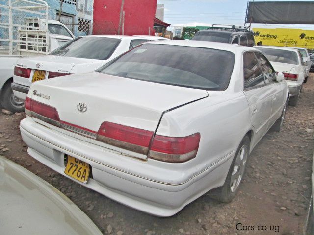
[{"label": "pale car body panel cropped in the bottom left corner", "polygon": [[2,156],[0,198],[3,235],[102,235],[60,191]]}]

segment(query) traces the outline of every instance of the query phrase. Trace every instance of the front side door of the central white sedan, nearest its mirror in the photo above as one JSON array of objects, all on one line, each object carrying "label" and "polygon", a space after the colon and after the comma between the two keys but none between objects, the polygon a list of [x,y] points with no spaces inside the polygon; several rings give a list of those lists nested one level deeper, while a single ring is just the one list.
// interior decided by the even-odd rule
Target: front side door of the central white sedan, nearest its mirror
[{"label": "front side door of the central white sedan, nearest its mirror", "polygon": [[276,72],[262,53],[255,53],[255,55],[264,73],[265,82],[272,98],[272,117],[270,119],[270,124],[272,124],[280,117],[283,104],[286,100],[284,83],[276,81]]}]

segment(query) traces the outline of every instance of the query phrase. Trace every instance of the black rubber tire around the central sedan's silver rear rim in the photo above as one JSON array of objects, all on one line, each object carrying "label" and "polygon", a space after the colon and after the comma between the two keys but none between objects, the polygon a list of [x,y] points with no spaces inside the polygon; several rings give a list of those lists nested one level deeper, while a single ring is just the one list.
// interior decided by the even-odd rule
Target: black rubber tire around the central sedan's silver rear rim
[{"label": "black rubber tire around the central sedan's silver rear rim", "polygon": [[[235,166],[236,166],[236,162],[238,159],[238,155],[240,153],[240,150],[242,150],[243,147],[244,147],[243,150],[246,154],[245,162],[244,162],[244,164],[241,163],[241,166],[237,168],[237,171],[242,172],[241,178],[238,178],[239,180],[237,180],[236,182],[233,181],[233,184],[232,184],[231,179],[236,174],[235,173]],[[247,165],[247,160],[249,158],[249,154],[250,154],[250,138],[246,135],[236,150],[234,160],[232,161],[232,164],[230,166],[230,169],[229,169],[229,172],[228,172],[228,175],[227,175],[227,178],[226,178],[224,185],[219,187],[219,188],[215,188],[215,189],[211,190],[209,193],[210,197],[212,197],[213,199],[216,199],[220,202],[223,202],[223,203],[229,203],[234,199],[237,191],[239,190],[239,186],[242,182],[243,175],[245,174],[245,168]],[[240,153],[240,155],[241,155],[241,153]],[[233,186],[236,186],[236,188],[233,188]]]}]

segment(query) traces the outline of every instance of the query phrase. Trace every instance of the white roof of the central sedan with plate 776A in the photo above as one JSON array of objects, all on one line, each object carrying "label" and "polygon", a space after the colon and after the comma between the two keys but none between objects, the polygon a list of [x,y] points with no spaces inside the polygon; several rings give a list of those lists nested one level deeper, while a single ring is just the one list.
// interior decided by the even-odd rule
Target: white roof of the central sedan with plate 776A
[{"label": "white roof of the central sedan with plate 776A", "polygon": [[173,45],[173,46],[183,46],[183,47],[201,47],[201,48],[211,48],[217,50],[226,50],[233,53],[241,53],[243,51],[259,51],[258,49],[252,47],[245,47],[240,45],[228,44],[228,43],[216,43],[208,41],[197,41],[197,40],[164,40],[164,41],[149,41],[144,44],[160,44],[160,45]]}]

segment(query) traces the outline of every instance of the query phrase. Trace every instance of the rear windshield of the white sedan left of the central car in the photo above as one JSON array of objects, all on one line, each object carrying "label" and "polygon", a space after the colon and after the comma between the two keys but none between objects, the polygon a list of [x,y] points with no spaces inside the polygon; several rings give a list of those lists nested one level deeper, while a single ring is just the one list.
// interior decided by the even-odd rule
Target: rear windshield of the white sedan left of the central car
[{"label": "rear windshield of the white sedan left of the central car", "polygon": [[120,39],[105,37],[81,37],[52,51],[51,55],[106,60],[115,51]]}]

